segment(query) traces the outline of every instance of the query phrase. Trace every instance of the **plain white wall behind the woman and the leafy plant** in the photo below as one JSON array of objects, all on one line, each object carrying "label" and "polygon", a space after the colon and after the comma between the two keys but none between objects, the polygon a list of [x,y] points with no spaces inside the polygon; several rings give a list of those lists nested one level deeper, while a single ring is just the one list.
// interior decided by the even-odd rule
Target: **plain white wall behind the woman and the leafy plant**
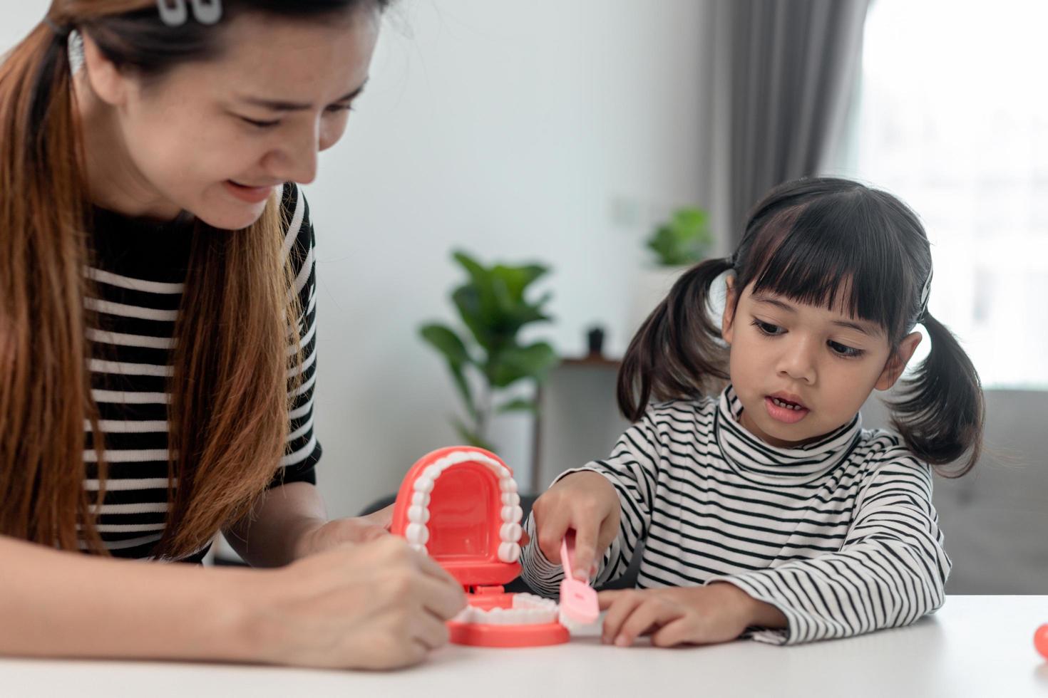
[{"label": "plain white wall behind the woman and the leafy plant", "polygon": [[[46,0],[7,3],[0,50]],[[320,478],[333,515],[395,490],[427,451],[457,442],[457,398],[417,338],[453,319],[454,247],[538,260],[556,323],[625,347],[648,225],[701,203],[706,136],[703,3],[694,0],[399,0],[345,139],[308,187],[319,235]],[[529,426],[496,434],[510,466]]]}]

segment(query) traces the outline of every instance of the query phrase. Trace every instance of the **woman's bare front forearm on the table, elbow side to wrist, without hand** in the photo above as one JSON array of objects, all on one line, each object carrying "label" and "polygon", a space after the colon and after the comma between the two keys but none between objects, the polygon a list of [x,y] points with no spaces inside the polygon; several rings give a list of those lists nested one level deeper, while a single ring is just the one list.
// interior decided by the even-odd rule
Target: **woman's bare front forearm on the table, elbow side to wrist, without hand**
[{"label": "woman's bare front forearm on the table, elbow side to wrist, without hand", "polygon": [[256,580],[0,537],[0,654],[250,660]]}]

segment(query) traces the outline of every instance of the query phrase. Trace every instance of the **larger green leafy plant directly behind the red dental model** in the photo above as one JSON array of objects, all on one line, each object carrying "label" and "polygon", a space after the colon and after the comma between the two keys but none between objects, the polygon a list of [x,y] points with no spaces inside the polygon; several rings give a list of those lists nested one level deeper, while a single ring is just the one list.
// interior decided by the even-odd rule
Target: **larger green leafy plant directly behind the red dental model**
[{"label": "larger green leafy plant directly behind the red dental model", "polygon": [[506,389],[521,381],[538,385],[558,363],[548,342],[525,344],[518,337],[526,325],[551,319],[545,311],[550,293],[533,301],[526,297],[548,269],[537,264],[484,266],[462,251],[453,257],[467,275],[451,294],[465,331],[429,322],[419,334],[444,358],[462,398],[465,419],[452,418],[459,436],[494,451],[487,434],[496,414],[537,409],[533,398],[504,398]]}]

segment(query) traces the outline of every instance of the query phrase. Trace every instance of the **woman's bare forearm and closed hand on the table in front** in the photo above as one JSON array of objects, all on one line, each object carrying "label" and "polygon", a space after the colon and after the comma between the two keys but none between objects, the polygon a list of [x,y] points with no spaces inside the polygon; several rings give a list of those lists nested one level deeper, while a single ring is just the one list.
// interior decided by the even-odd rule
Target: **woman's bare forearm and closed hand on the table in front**
[{"label": "woman's bare forearm and closed hand on the table in front", "polygon": [[0,537],[0,655],[383,669],[443,645],[463,605],[455,580],[392,536],[264,571]]}]

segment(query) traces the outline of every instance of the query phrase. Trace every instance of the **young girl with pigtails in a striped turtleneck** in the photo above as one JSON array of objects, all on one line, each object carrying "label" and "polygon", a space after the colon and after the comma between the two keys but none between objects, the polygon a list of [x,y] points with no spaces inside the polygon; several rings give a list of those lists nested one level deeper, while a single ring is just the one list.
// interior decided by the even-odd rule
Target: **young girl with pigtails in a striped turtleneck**
[{"label": "young girl with pigtails in a striped turtleneck", "polygon": [[[708,303],[724,272],[717,328]],[[525,581],[556,593],[568,528],[574,568],[602,584],[642,546],[637,589],[601,594],[604,640],[620,646],[747,629],[803,643],[937,609],[951,563],[926,464],[973,467],[983,403],[927,312],[931,282],[924,230],[894,197],[828,178],[773,189],[735,254],[686,272],[633,338],[618,400],[635,424],[611,457],[536,501]],[[931,353],[892,403],[897,433],[863,429],[859,407],[896,383],[918,322]]]}]

